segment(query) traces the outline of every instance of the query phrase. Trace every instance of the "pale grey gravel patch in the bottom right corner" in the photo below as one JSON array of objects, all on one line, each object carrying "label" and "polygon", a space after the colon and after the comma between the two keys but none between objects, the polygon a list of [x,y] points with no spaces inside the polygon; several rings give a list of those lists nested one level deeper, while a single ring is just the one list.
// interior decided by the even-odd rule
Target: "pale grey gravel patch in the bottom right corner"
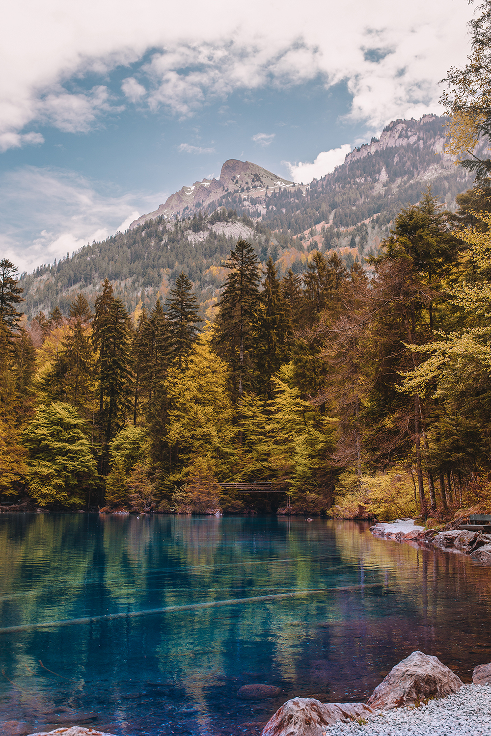
[{"label": "pale grey gravel patch in the bottom right corner", "polygon": [[322,734],[336,736],[491,736],[491,685],[464,684],[453,695],[419,708],[378,710],[367,723],[334,723]]}]

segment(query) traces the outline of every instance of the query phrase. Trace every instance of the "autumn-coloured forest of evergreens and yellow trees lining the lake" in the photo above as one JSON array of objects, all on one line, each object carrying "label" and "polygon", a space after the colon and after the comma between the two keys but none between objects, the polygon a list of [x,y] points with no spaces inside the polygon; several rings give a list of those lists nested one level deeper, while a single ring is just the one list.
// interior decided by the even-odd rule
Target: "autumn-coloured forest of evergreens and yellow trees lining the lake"
[{"label": "autumn-coloured forest of evergreens and yellow trees lining the lake", "polygon": [[[368,271],[278,277],[239,239],[217,314],[183,271],[28,322],[0,262],[4,509],[433,519],[491,511],[491,189],[402,208]],[[248,494],[220,484],[270,481]]]}]

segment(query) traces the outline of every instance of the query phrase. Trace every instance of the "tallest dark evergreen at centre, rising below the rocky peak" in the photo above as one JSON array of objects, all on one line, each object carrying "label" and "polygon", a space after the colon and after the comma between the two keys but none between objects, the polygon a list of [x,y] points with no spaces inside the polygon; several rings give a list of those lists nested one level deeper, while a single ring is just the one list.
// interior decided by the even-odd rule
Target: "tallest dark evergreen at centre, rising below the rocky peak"
[{"label": "tallest dark evergreen at centre, rising below the rocky peak", "polygon": [[259,296],[258,257],[250,243],[237,241],[227,262],[227,276],[216,319],[215,344],[230,365],[239,402],[251,383],[251,365]]}]

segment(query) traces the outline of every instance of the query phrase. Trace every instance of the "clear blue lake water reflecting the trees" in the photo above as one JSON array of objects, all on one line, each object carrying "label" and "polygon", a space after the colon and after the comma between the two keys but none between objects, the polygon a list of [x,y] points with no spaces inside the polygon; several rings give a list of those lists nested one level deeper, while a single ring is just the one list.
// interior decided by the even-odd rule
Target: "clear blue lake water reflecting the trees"
[{"label": "clear blue lake water reflecting the trees", "polygon": [[[491,570],[365,523],[1,514],[0,721],[257,735],[294,696],[358,701],[414,649],[491,661]],[[263,701],[244,684],[280,687]]]}]

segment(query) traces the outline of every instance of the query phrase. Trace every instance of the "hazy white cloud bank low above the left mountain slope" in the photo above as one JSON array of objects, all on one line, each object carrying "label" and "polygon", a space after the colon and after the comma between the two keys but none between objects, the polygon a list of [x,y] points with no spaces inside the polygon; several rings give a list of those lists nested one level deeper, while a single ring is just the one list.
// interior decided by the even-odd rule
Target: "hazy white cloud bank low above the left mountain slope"
[{"label": "hazy white cloud bank low above the left mountain slope", "polygon": [[0,177],[0,250],[21,271],[29,271],[126,230],[167,197],[165,192],[110,196],[73,171],[31,166],[11,171]]}]

